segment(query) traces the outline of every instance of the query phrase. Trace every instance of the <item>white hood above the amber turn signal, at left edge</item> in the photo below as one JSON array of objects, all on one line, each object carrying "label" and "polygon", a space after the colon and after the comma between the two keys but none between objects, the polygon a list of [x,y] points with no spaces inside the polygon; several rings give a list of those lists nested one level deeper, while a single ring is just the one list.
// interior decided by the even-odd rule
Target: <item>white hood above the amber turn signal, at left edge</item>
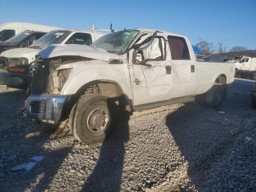
[{"label": "white hood above the amber turn signal, at left edge", "polygon": [[35,55],[39,52],[39,49],[32,49],[32,48],[16,48],[7,50],[1,53],[1,57],[7,58],[27,58],[28,63],[31,63],[35,60]]}]

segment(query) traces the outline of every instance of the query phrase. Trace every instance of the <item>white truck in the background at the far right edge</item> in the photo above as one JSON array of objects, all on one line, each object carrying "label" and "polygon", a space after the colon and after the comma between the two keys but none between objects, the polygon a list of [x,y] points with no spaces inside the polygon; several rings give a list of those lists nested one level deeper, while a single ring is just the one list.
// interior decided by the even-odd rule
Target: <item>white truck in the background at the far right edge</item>
[{"label": "white truck in the background at the far right edge", "polygon": [[246,78],[250,76],[252,80],[256,80],[256,58],[247,56],[236,56],[231,61],[235,63],[235,76],[239,74]]}]

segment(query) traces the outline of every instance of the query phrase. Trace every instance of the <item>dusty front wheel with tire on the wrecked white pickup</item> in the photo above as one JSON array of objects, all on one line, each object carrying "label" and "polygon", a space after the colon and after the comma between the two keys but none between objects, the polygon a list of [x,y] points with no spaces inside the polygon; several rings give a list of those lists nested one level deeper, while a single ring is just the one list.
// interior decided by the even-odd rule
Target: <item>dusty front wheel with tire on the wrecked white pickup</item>
[{"label": "dusty front wheel with tire on the wrecked white pickup", "polygon": [[116,105],[100,94],[85,94],[70,112],[74,137],[85,144],[103,142],[114,129]]}]

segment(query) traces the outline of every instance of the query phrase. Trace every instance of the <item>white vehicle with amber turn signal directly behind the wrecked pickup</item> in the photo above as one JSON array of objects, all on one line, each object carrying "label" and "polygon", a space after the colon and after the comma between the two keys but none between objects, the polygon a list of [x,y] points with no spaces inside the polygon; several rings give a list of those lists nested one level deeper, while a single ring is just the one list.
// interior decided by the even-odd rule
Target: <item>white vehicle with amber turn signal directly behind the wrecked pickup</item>
[{"label": "white vehicle with amber turn signal directly behind the wrecked pickup", "polygon": [[41,49],[51,44],[61,44],[62,46],[64,44],[80,44],[89,46],[104,35],[106,34],[91,30],[53,30],[33,43],[29,48],[18,48],[2,52],[0,61],[4,60],[6,64],[5,69],[8,72],[0,74],[0,79],[3,79],[1,84],[6,84],[11,88],[26,90],[30,84],[35,55]]}]

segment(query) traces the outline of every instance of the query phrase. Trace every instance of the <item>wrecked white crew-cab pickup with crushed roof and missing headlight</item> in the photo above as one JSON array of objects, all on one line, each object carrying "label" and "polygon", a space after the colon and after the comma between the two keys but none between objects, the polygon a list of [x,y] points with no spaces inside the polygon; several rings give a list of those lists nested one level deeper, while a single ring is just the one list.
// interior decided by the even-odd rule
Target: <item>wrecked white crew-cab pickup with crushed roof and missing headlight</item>
[{"label": "wrecked white crew-cab pickup with crushed roof and missing headlight", "polygon": [[[102,142],[116,116],[194,101],[218,107],[234,82],[234,63],[197,62],[186,36],[151,29],[108,34],[90,46],[51,45],[36,56],[29,118],[69,114],[74,137]],[[71,112],[70,112],[71,111]]]}]

